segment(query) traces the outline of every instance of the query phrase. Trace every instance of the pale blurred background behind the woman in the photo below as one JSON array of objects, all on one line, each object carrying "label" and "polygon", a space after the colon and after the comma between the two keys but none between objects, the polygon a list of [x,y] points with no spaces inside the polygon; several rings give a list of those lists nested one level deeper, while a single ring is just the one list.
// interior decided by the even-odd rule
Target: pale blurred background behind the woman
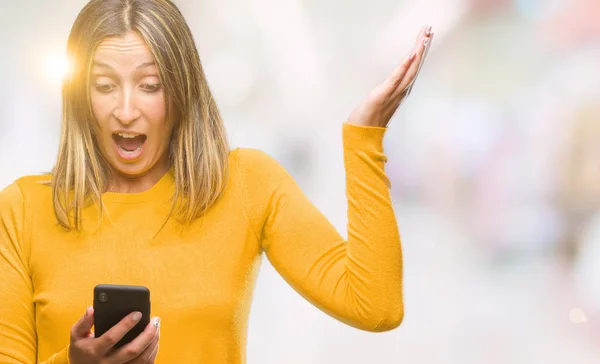
[{"label": "pale blurred background behind the woman", "polygon": [[[179,0],[233,147],[279,160],[346,235],[341,123],[433,46],[386,136],[406,314],[325,316],[264,260],[249,363],[600,363],[600,1]],[[47,172],[85,0],[0,0],[0,188]]]}]

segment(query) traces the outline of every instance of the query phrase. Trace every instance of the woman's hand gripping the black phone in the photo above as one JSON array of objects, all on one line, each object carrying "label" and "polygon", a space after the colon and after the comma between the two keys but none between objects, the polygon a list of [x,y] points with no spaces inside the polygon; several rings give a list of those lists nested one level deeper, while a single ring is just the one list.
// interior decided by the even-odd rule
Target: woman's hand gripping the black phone
[{"label": "woman's hand gripping the black phone", "polygon": [[94,310],[89,307],[85,315],[71,328],[69,361],[71,364],[152,364],[158,354],[160,320],[155,317],[138,337],[119,349],[113,346],[135,327],[140,313],[127,315],[104,335],[95,338],[92,333]]}]

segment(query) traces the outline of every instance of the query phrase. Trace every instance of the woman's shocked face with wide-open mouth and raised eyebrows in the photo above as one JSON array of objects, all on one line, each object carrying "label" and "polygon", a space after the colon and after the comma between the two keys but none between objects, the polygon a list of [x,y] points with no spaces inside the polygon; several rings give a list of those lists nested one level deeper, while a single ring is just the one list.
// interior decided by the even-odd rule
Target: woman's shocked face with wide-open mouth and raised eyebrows
[{"label": "woman's shocked face with wide-open mouth and raised eyebrows", "polygon": [[129,32],[100,43],[90,84],[97,142],[114,172],[166,172],[173,121],[166,118],[158,68],[143,38]]}]

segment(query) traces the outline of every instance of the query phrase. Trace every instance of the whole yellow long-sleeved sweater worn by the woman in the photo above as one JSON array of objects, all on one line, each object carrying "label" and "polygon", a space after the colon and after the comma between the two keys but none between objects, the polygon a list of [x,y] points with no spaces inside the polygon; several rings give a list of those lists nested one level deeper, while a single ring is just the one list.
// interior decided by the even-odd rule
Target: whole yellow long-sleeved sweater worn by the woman
[{"label": "whole yellow long-sleeved sweater worn by the woman", "polygon": [[[161,317],[157,363],[241,364],[264,252],[304,298],[356,328],[403,317],[402,253],[384,172],[383,128],[343,126],[348,241],[263,152],[235,149],[223,197],[182,229],[170,219],[174,180],[105,193],[98,225],[57,225],[49,176],[0,192],[0,363],[68,363],[69,330],[99,283],[144,285]],[[326,178],[326,176],[323,176]],[[163,226],[164,225],[164,226]]]}]

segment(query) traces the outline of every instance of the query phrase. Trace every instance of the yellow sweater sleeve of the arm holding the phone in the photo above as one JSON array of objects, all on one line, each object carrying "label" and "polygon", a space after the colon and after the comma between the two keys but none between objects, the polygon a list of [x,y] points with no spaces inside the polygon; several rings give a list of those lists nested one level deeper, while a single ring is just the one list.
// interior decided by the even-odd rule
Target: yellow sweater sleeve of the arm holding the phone
[{"label": "yellow sweater sleeve of the arm holding the phone", "polygon": [[[0,192],[0,363],[37,363],[25,199],[13,183]],[[67,348],[40,364],[68,364]]]}]

